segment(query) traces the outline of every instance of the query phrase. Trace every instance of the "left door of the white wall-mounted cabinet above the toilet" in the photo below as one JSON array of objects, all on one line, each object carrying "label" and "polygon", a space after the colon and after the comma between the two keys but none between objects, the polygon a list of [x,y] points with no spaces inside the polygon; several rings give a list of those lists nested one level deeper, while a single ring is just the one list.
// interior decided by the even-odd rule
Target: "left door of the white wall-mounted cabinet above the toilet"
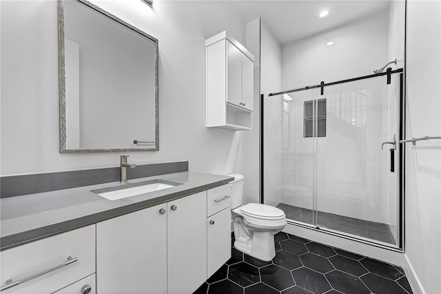
[{"label": "left door of the white wall-mounted cabinet above the toilet", "polygon": [[242,52],[227,41],[227,102],[242,106]]}]

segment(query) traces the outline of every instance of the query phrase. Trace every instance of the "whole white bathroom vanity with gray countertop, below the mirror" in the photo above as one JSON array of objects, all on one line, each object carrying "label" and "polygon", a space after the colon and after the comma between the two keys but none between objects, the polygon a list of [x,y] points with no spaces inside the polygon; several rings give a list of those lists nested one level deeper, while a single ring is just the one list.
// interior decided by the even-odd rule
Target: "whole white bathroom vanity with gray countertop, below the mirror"
[{"label": "whole white bathroom vanity with gray countertop, below the mirror", "polygon": [[230,180],[183,171],[116,200],[98,193],[119,182],[3,198],[1,292],[193,293],[231,257]]}]

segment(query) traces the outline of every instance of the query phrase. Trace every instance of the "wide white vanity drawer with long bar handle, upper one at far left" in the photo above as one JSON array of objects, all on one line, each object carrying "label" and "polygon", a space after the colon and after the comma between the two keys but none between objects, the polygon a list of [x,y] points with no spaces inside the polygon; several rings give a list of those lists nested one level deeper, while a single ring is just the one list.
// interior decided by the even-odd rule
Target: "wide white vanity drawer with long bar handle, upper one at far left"
[{"label": "wide white vanity drawer with long bar handle, upper one at far left", "polygon": [[[95,272],[95,225],[0,253],[1,294],[53,293]],[[19,282],[4,289],[6,281]]]}]

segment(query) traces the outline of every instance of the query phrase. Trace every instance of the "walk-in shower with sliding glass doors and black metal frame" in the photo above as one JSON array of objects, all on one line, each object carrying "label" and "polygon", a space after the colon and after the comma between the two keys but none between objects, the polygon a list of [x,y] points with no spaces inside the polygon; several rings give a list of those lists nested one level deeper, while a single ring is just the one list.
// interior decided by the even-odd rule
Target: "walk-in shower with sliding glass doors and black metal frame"
[{"label": "walk-in shower with sliding glass doors and black metal frame", "polygon": [[263,202],[289,224],[400,248],[402,83],[388,68],[263,94]]}]

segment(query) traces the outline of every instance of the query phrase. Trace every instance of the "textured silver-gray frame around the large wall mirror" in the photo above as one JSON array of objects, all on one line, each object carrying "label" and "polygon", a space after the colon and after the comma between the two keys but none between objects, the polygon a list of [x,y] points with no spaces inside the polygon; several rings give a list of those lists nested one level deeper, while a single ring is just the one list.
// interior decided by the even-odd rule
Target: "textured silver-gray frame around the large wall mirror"
[{"label": "textured silver-gray frame around the large wall mirror", "polygon": [[145,36],[154,42],[155,56],[154,56],[154,71],[155,71],[155,147],[154,148],[123,148],[123,149],[67,149],[66,148],[66,109],[65,109],[65,51],[64,51],[64,0],[58,0],[58,61],[59,61],[59,119],[60,119],[60,153],[90,153],[90,152],[132,152],[132,151],[158,151],[159,150],[159,87],[158,87],[158,39],[150,36],[135,28],[133,25],[126,23],[122,19],[115,17],[113,14],[95,6],[87,0],[74,0],[82,3],[89,8],[92,8],[96,12],[103,14],[105,17],[109,17],[113,21],[124,25],[126,28]]}]

